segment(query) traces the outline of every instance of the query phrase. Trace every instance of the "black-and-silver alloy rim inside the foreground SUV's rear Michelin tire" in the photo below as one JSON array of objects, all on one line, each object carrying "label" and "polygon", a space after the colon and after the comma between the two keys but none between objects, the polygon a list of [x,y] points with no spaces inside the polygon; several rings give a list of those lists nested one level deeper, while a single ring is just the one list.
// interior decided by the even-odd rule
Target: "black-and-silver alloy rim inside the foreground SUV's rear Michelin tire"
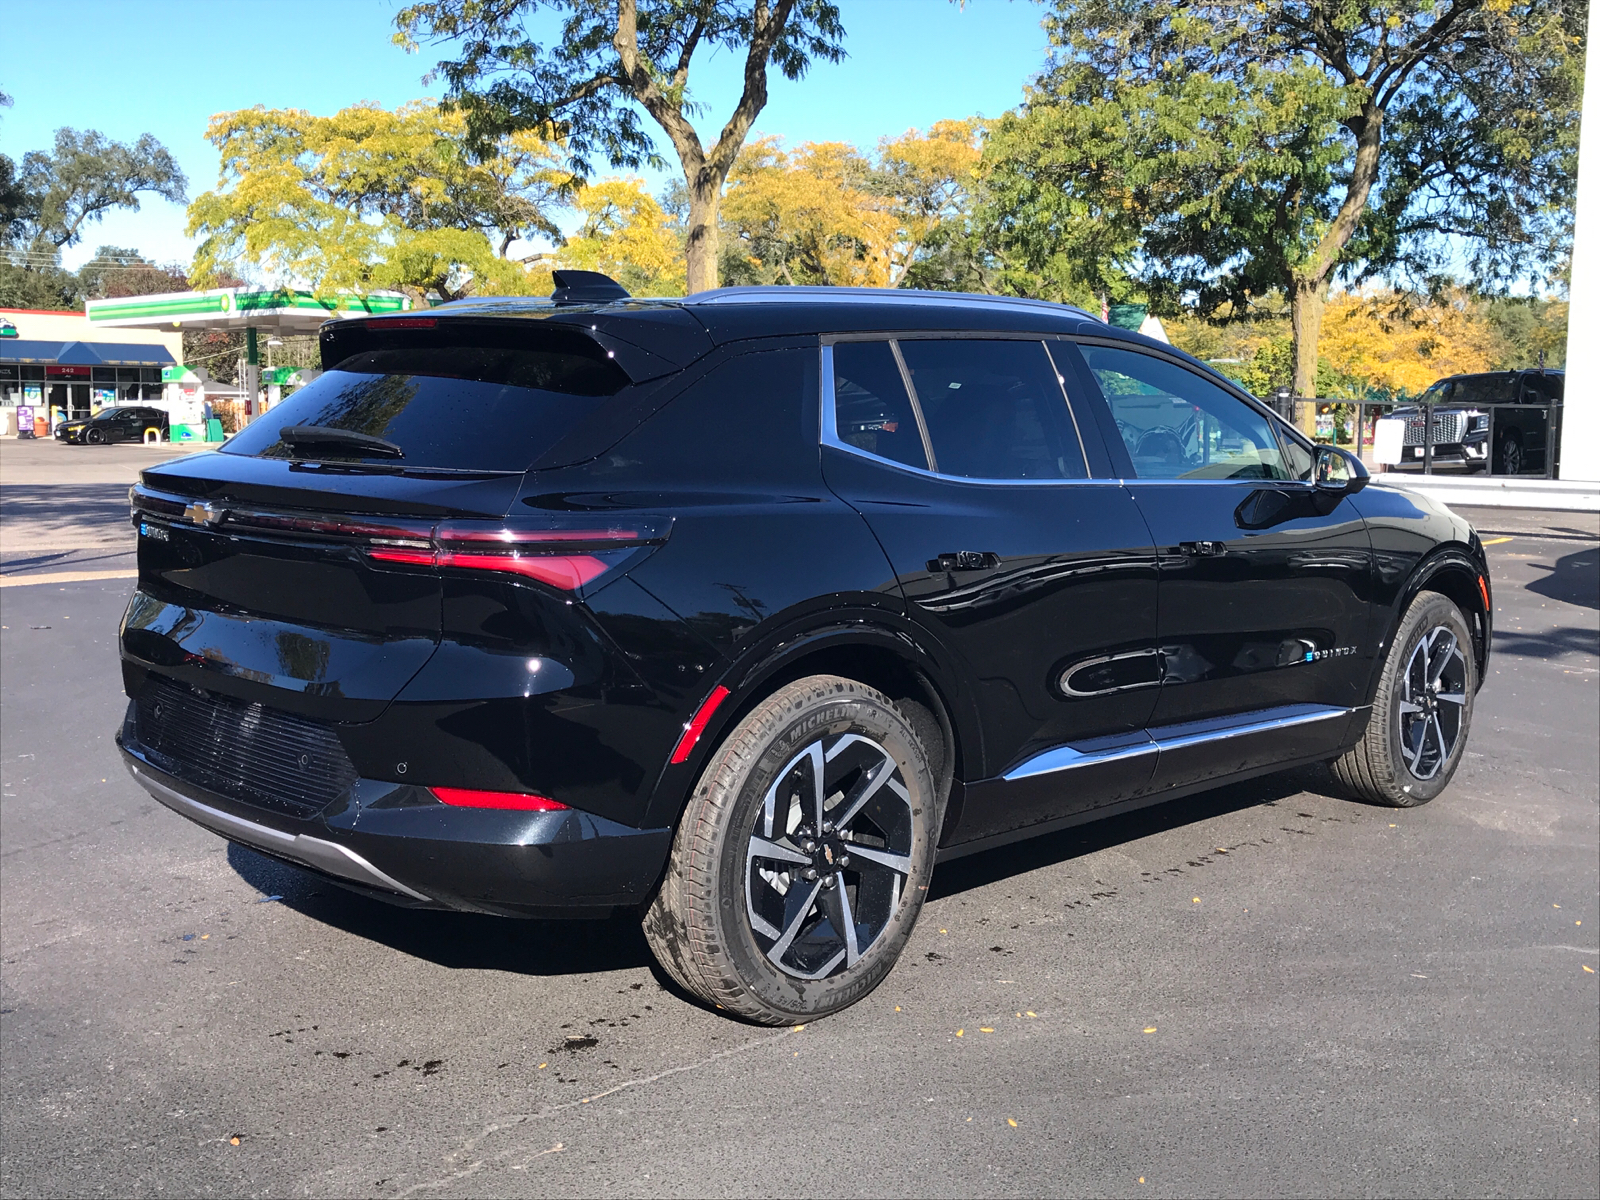
[{"label": "black-and-silver alloy rim inside the foreground SUV's rear Michelin tire", "polygon": [[763,798],[744,899],[762,954],[797,979],[848,971],[904,902],[910,794],[894,758],[858,733],[800,750]]}]

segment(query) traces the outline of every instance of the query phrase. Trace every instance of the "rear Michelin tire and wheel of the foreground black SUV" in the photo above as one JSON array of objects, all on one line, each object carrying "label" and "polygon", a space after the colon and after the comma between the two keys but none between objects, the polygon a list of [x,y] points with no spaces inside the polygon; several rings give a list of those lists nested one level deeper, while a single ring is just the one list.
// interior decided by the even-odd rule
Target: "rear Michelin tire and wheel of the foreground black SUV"
[{"label": "rear Michelin tire and wheel of the foreground black SUV", "polygon": [[645,938],[686,992],[749,1021],[846,1008],[910,938],[938,810],[930,754],[882,693],[837,675],[797,680],[706,763]]}]

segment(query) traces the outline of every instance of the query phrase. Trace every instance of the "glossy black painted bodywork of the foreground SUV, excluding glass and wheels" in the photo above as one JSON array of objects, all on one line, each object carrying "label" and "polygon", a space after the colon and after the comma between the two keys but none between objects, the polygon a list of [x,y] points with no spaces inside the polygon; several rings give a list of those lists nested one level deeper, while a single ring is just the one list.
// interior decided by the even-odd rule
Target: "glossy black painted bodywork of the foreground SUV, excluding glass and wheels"
[{"label": "glossy black painted bodywork of the foreground SUV, excluding glass and wheels", "polygon": [[[947,742],[946,854],[1330,757],[1358,736],[1386,638],[1422,586],[1478,622],[1482,678],[1470,526],[1379,486],[1330,502],[1294,480],[1131,478],[1070,342],[1173,352],[1075,310],[805,291],[456,309],[430,315],[446,330],[456,315],[558,322],[616,350],[634,386],[526,474],[216,453],[150,469],[122,638],[130,696],[158,675],[326,722],[360,779],[310,822],[317,837],[434,902],[640,902],[718,739],[805,674],[853,675],[930,714],[928,739]],[[957,480],[826,438],[827,346],[963,334],[1048,347],[1080,477]],[[370,554],[384,530],[426,547],[461,520],[629,518],[669,533],[574,590]],[[728,699],[670,763],[717,686]],[[1206,746],[1294,706],[1339,715]],[[1030,773],[1061,750],[1086,758]],[[448,808],[426,786],[538,792],[571,811]]]}]

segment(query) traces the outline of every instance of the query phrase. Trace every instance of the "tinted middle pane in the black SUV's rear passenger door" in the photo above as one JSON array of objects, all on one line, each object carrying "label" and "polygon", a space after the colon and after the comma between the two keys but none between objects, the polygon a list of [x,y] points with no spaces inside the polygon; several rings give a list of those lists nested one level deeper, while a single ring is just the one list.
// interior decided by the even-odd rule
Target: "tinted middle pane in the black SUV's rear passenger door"
[{"label": "tinted middle pane in the black SUV's rear passenger door", "polygon": [[1086,478],[1043,342],[902,341],[934,470],[963,478]]}]

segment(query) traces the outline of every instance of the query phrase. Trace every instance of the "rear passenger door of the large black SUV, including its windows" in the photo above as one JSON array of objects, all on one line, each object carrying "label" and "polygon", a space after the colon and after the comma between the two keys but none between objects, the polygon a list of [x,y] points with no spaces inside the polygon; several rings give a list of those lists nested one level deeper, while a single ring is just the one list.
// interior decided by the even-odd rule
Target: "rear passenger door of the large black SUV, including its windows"
[{"label": "rear passenger door of the large black SUV, including its windows", "polygon": [[1094,429],[1086,459],[1043,342],[851,338],[824,346],[822,370],[827,483],[976,691],[982,747],[947,840],[1142,792],[1154,547]]}]

